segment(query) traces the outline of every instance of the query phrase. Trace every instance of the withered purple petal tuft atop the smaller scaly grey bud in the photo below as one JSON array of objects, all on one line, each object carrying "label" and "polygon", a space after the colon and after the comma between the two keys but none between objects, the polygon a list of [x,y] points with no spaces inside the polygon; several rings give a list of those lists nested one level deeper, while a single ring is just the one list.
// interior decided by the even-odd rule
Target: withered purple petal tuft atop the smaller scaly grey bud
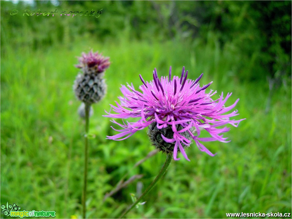
[{"label": "withered purple petal tuft atop the smaller scaly grey bud", "polygon": [[82,53],[79,57],[80,64],[76,65],[77,68],[95,68],[95,72],[104,72],[106,68],[109,68],[109,57],[101,56],[98,52],[93,53],[92,50],[86,53]]}]

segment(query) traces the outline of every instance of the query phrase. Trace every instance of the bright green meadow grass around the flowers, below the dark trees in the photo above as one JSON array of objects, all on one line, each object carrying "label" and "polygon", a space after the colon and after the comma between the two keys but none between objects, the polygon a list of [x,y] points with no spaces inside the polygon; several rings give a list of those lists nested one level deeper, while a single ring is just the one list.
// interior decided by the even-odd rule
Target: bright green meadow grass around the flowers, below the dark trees
[{"label": "bright green meadow grass around the flowers, below the dark trees", "polygon": [[[73,45],[73,46],[72,46]],[[207,142],[211,157],[192,145],[191,162],[172,161],[164,178],[146,196],[146,204],[128,218],[226,218],[232,212],[291,212],[291,80],[275,89],[265,113],[266,81],[239,80],[254,63],[242,60],[232,44],[220,48],[210,35],[207,44],[193,41],[146,42],[85,37],[74,43],[33,50],[4,42],[1,54],[1,204],[16,203],[23,210],[55,210],[56,218],[81,217],[84,121],[77,114],[80,102],[72,85],[78,73],[76,56],[91,48],[109,56],[106,97],[93,105],[88,165],[88,217],[115,218],[131,204],[136,185],[144,189],[162,167],[166,156],[156,154],[130,170],[154,148],[146,130],[124,141],[113,135],[109,118],[102,117],[121,95],[121,84],[141,84],[157,68],[167,75],[169,66],[189,78],[204,72],[202,84],[232,92],[228,101],[246,118],[226,133],[230,143]],[[244,63],[242,63],[244,62]],[[181,155],[179,155],[182,157]],[[143,174],[105,202],[104,195],[119,179]],[[1,215],[3,217],[3,214]],[[5,217],[5,216],[4,216]]]}]

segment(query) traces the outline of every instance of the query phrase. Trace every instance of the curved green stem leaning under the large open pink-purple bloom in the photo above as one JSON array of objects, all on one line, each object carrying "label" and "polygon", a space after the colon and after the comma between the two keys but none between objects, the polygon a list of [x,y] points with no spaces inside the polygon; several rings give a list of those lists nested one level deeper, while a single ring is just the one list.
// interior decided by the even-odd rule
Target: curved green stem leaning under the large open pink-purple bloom
[{"label": "curved green stem leaning under the large open pink-purple bloom", "polygon": [[158,182],[158,180],[167,171],[167,167],[169,166],[171,160],[172,160],[172,154],[167,154],[166,161],[165,161],[162,169],[160,170],[160,172],[156,176],[155,180],[153,180],[153,182],[146,188],[145,192],[143,192],[143,194],[137,199],[137,201],[134,204],[130,205],[128,207],[128,209],[126,209],[125,212],[122,213],[119,218],[124,217],[130,210],[132,210],[140,202],[140,200],[154,187],[154,185]]}]

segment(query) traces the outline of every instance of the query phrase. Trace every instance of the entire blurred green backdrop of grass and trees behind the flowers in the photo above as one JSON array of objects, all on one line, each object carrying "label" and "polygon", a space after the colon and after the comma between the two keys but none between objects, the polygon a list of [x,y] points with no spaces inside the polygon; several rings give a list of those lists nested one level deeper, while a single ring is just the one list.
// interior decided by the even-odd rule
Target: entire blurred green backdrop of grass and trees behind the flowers
[{"label": "entire blurred green backdrop of grass and trees behind the flowers", "polygon": [[[291,213],[291,1],[1,1],[1,204],[81,217],[84,121],[72,85],[77,56],[109,56],[106,97],[93,105],[88,217],[115,218],[158,174],[165,154],[146,130],[124,141],[102,117],[121,84],[141,85],[157,68],[183,66],[201,85],[232,92],[238,128],[231,142],[206,142],[216,156],[192,145],[191,162],[173,161],[128,218],[226,218],[225,213]],[[12,10],[18,10],[10,15]],[[27,16],[24,10],[55,11]],[[94,16],[60,12],[101,10]],[[219,97],[219,94],[217,95]],[[216,97],[214,97],[216,98]],[[179,155],[181,158],[182,156]],[[128,173],[134,180],[105,201]],[[5,217],[1,213],[1,217]]]}]

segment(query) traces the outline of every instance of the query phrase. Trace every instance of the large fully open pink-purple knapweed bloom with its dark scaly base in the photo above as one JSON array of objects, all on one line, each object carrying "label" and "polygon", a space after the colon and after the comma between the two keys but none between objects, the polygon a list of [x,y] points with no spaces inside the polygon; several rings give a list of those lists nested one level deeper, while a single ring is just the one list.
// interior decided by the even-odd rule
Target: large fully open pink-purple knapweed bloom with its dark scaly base
[{"label": "large fully open pink-purple knapweed bloom with its dark scaly base", "polygon": [[[140,118],[137,122],[124,122],[123,124],[112,120],[113,123],[121,126],[119,134],[107,136],[113,140],[123,140],[129,138],[136,131],[149,127],[148,136],[152,144],[160,151],[173,153],[173,158],[177,158],[180,151],[184,158],[189,160],[185,153],[185,148],[189,147],[193,139],[197,147],[214,156],[201,142],[226,141],[222,133],[228,132],[226,124],[237,127],[242,121],[230,119],[237,114],[233,109],[237,99],[232,105],[225,107],[225,102],[231,96],[228,93],[216,100],[212,96],[216,91],[207,93],[206,89],[212,84],[212,81],[200,87],[199,80],[201,74],[195,81],[187,79],[187,73],[183,67],[182,75],[179,78],[174,76],[171,79],[171,67],[169,76],[158,78],[156,68],[153,71],[153,80],[145,82],[140,75],[142,85],[138,90],[134,86],[122,85],[121,92],[124,96],[118,97],[120,103],[115,101],[116,106],[111,105],[111,110],[106,117],[112,118]],[[114,111],[115,113],[111,113]],[[219,126],[224,126],[219,128]],[[113,127],[112,127],[113,128]],[[201,138],[201,130],[206,130],[210,137]]]}]

